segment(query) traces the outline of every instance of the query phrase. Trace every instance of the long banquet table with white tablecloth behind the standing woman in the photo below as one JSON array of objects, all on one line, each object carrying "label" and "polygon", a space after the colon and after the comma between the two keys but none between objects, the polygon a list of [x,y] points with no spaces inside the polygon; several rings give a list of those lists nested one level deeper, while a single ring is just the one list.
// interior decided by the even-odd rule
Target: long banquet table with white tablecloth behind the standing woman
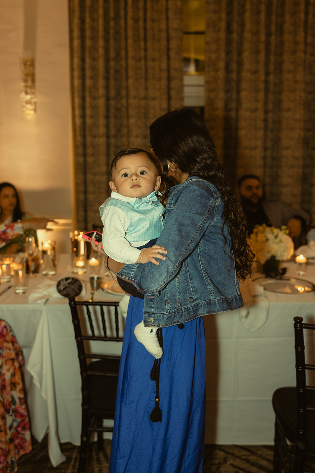
[{"label": "long banquet table with white tablecloth behind the standing woman", "polygon": [[[294,263],[284,265],[289,276],[296,276]],[[80,444],[77,346],[67,298],[54,290],[47,298],[43,295],[42,300],[30,301],[43,281],[55,288],[62,277],[73,276],[69,255],[60,255],[57,268],[55,276],[38,274],[30,278],[26,294],[15,294],[10,289],[0,296],[0,318],[13,327],[26,359],[31,430],[39,441],[48,430],[49,455],[54,466],[65,460],[60,443]],[[88,276],[78,278],[86,281],[81,297],[89,299]],[[301,278],[315,283],[315,266],[308,265],[307,274]],[[293,317],[301,315],[315,322],[314,292],[293,295],[264,291],[256,297],[255,279],[256,276],[254,282],[240,286],[245,309],[204,316],[206,443],[273,443],[272,393],[277,387],[295,384]],[[3,287],[4,283],[0,284],[0,292]],[[94,300],[97,299],[119,300],[119,296],[98,290]],[[110,347],[113,354],[120,350],[121,344]]]}]

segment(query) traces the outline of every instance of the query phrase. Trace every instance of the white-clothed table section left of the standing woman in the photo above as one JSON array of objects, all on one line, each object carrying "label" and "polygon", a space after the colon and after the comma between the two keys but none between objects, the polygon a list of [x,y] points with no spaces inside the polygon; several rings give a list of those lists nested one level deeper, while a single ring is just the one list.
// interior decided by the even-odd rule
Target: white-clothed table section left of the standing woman
[{"label": "white-clothed table section left of the standing woman", "polygon": [[[56,275],[47,277],[37,274],[35,278],[29,278],[25,294],[15,294],[12,288],[0,296],[0,318],[12,326],[26,361],[25,382],[31,431],[41,441],[48,430],[48,449],[53,466],[66,459],[60,443],[80,445],[81,433],[82,396],[77,344],[68,298],[60,296],[55,290],[58,280],[68,276],[81,280],[83,292],[78,298],[88,300],[89,276],[87,273],[71,273],[69,254],[58,258]],[[103,277],[103,280],[111,280],[111,277]],[[51,296],[45,295],[46,286]],[[0,284],[0,292],[4,287],[4,283]],[[37,294],[40,298],[38,288],[41,287],[43,300],[30,303],[32,296]],[[117,301],[120,298],[99,289],[94,300]],[[119,317],[123,327],[120,311]],[[122,334],[123,329],[119,335]],[[110,354],[121,353],[119,342],[108,342],[106,348],[104,351]]]}]

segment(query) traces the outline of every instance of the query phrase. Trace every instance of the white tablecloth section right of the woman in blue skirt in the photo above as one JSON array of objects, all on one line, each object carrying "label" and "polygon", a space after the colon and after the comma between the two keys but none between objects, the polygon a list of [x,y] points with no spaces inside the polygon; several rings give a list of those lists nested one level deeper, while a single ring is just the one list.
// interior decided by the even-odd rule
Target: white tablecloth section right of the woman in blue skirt
[{"label": "white tablecloth section right of the woman in blue skirt", "polygon": [[[283,262],[282,266],[288,268],[286,275],[297,276],[295,263]],[[306,271],[305,276],[297,277],[315,284],[315,266],[307,266]],[[240,287],[246,306],[253,310],[250,284]],[[267,318],[256,331],[247,330],[240,322],[243,309],[204,316],[206,443],[273,444],[272,393],[278,387],[295,385],[293,317],[299,315],[315,323],[315,293],[265,291],[263,296],[268,303]]]}]

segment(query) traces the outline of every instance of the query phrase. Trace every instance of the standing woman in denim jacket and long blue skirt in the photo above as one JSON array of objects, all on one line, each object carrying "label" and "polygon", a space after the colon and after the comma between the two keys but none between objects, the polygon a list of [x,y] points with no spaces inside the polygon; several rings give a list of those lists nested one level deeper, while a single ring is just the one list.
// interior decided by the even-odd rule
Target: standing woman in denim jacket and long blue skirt
[{"label": "standing woman in denim jacket and long blue skirt", "polygon": [[[166,259],[123,267],[108,261],[144,298],[131,296],[128,305],[110,472],[201,473],[202,316],[243,306],[238,278],[250,273],[253,255],[202,118],[191,109],[169,112],[151,124],[150,140],[166,181],[177,185],[166,191],[164,228],[156,242],[167,250]],[[162,359],[154,360],[137,343],[134,328],[141,321],[159,327]]]}]

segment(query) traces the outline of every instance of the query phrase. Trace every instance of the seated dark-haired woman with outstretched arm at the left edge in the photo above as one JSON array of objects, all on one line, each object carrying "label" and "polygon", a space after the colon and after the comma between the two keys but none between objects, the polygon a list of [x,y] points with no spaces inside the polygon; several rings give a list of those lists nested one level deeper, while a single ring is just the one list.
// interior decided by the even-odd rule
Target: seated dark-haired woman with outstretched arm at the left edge
[{"label": "seated dark-haired woman with outstretched arm at the left edge", "polygon": [[47,223],[54,222],[54,220],[34,218],[30,214],[22,212],[16,188],[9,182],[2,182],[0,184],[0,230],[14,222],[22,224],[24,233],[15,236],[9,243],[0,247],[0,253],[24,251],[26,236],[34,236],[37,245],[36,230],[46,229]]}]

